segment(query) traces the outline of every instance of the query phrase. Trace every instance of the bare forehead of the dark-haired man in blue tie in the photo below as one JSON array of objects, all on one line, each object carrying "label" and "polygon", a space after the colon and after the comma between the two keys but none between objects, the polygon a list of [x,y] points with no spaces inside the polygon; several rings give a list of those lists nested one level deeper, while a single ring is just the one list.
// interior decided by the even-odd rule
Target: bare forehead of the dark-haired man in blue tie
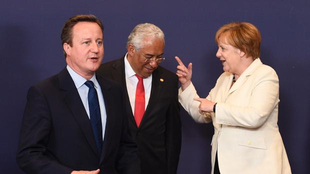
[{"label": "bare forehead of the dark-haired man in blue tie", "polygon": [[95,22],[77,22],[72,28],[72,36],[101,35],[102,30]]}]

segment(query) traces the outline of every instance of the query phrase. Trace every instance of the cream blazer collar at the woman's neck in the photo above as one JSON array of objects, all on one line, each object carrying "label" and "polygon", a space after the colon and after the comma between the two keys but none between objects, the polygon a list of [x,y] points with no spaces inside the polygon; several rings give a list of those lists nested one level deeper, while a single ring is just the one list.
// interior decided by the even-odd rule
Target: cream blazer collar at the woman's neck
[{"label": "cream blazer collar at the woman's neck", "polygon": [[[232,87],[228,90],[228,94],[232,93],[233,91],[237,90],[242,86],[242,84],[246,81],[247,77],[252,75],[252,73],[262,64],[259,58],[255,59],[240,75],[238,80],[232,85]],[[233,74],[230,75],[229,81],[232,82]],[[231,85],[231,83],[228,83]],[[229,86],[230,87],[230,86]]]}]

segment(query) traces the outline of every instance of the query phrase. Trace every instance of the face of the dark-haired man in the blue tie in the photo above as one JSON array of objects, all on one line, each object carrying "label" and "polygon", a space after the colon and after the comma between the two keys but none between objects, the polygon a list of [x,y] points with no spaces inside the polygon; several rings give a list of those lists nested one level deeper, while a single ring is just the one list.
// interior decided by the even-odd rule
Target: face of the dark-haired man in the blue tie
[{"label": "face of the dark-haired man in the blue tie", "polygon": [[66,62],[76,73],[90,79],[99,68],[103,55],[103,35],[94,22],[78,22],[72,28],[72,47],[64,43]]}]

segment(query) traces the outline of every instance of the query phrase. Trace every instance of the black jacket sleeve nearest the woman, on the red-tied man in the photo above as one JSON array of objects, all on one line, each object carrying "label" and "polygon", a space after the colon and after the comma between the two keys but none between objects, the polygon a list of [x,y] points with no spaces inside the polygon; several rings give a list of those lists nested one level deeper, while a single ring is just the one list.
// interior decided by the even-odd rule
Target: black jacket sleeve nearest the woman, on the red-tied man
[{"label": "black jacket sleeve nearest the woman, on the red-tied man", "polygon": [[177,100],[178,80],[175,77],[173,88],[173,100],[170,103],[166,115],[166,155],[168,162],[168,174],[176,174],[179,154],[181,150],[181,120],[180,108]]}]

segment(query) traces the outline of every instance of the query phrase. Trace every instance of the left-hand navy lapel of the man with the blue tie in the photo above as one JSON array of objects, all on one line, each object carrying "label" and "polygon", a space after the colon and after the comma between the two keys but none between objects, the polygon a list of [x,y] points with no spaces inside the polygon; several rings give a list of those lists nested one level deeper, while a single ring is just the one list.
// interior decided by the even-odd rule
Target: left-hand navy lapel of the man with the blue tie
[{"label": "left-hand navy lapel of the man with the blue tie", "polygon": [[74,85],[74,82],[70,74],[66,70],[66,68],[64,68],[58,74],[58,77],[59,77],[60,89],[63,90],[64,99],[69,109],[71,110],[73,117],[79,124],[80,129],[85,135],[85,138],[89,143],[91,149],[93,150],[94,154],[98,157],[98,152],[95,140],[93,138],[93,132],[90,125],[90,121],[85,111],[84,105],[81,102],[77,89]]}]

